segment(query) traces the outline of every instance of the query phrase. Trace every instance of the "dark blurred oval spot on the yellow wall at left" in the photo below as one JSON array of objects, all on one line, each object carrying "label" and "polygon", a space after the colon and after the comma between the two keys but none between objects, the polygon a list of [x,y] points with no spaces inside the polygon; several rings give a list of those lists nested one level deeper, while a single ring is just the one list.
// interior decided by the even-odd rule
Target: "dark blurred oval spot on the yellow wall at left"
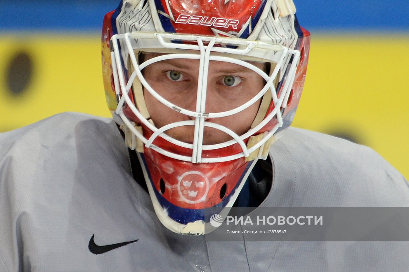
[{"label": "dark blurred oval spot on the yellow wall at left", "polygon": [[30,54],[19,51],[6,67],[6,84],[12,95],[24,93],[33,76],[33,60]]}]

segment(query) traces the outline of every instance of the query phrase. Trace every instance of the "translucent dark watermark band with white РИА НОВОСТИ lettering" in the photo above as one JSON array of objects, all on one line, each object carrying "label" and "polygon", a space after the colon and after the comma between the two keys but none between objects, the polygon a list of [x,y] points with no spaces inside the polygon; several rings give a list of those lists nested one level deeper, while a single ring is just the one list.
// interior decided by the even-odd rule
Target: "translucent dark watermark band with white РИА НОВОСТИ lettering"
[{"label": "translucent dark watermark band with white \u0420\u0418\u0410 \u041d\u041e\u0412\u041e\u0421\u0422\u0418 lettering", "polygon": [[231,208],[225,218],[208,212],[208,241],[409,241],[407,207]]}]

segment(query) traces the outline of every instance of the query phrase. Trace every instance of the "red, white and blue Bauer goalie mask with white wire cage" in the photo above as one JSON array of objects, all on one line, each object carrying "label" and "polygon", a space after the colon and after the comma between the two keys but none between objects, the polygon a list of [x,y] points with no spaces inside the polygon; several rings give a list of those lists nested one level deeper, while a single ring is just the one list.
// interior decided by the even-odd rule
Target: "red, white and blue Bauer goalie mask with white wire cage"
[{"label": "red, white and blue Bauer goalie mask with white wire cage", "polygon": [[106,14],[108,107],[169,230],[214,230],[291,124],[310,43],[294,13],[292,0],[128,0]]}]

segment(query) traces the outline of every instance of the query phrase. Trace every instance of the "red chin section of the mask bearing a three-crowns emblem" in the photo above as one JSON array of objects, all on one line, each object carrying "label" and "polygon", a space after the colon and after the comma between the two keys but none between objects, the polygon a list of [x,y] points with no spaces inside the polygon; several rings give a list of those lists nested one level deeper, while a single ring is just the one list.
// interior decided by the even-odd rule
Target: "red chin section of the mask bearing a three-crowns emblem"
[{"label": "red chin section of the mask bearing a three-crowns emblem", "polygon": [[[144,149],[154,190],[178,207],[203,209],[219,204],[233,193],[248,163],[244,158],[223,163],[178,161],[153,149]],[[164,182],[164,190],[161,179]],[[222,189],[225,185],[226,190]]]}]

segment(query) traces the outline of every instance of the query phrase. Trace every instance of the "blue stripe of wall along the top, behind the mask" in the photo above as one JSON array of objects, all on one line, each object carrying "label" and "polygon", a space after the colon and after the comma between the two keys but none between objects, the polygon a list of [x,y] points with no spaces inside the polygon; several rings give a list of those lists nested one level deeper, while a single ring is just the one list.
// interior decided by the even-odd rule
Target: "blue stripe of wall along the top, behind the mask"
[{"label": "blue stripe of wall along the top, behind the mask", "polygon": [[[117,0],[2,0],[0,31],[98,30],[103,16]],[[300,24],[306,29],[409,30],[406,0],[294,0]]]}]

